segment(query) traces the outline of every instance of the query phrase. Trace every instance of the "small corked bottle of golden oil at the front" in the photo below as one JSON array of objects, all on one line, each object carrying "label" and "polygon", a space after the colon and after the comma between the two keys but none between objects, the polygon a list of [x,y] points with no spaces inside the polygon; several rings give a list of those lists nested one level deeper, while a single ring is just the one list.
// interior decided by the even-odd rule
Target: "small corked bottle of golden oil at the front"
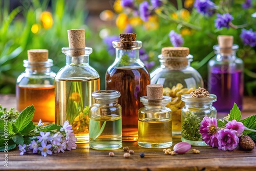
[{"label": "small corked bottle of golden oil at the front", "polygon": [[166,148],[173,145],[172,110],[166,108],[171,97],[163,96],[161,84],[148,84],[146,96],[140,97],[144,107],[138,111],[138,145]]}]

